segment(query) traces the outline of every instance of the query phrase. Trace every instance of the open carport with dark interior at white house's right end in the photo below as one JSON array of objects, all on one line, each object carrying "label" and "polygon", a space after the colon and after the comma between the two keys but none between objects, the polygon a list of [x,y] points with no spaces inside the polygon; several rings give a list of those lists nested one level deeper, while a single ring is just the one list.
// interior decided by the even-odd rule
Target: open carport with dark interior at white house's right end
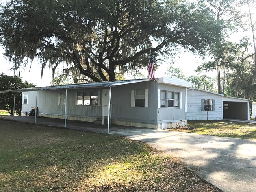
[{"label": "open carport with dark interior at white house's right end", "polygon": [[250,120],[250,100],[223,96],[223,118]]}]

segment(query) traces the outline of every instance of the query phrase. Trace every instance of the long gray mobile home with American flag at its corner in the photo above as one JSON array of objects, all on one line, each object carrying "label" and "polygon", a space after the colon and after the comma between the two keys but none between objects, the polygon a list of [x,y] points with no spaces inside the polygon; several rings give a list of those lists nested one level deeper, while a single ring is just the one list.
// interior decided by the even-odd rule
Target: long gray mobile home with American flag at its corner
[{"label": "long gray mobile home with American flag at its corner", "polygon": [[108,116],[118,125],[186,126],[188,87],[182,79],[156,78],[23,89],[22,115],[37,106],[39,116],[52,118],[94,122]]}]

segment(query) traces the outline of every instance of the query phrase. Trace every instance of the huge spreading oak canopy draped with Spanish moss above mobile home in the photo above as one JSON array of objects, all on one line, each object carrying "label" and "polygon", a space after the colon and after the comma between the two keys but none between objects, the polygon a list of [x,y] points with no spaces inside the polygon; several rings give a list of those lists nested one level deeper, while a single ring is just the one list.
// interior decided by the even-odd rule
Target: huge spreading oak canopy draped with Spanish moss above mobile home
[{"label": "huge spreading oak canopy draped with Spanish moss above mobile home", "polygon": [[150,49],[204,54],[214,27],[204,4],[180,0],[10,0],[0,11],[0,43],[16,69],[37,57],[42,72],[65,62],[88,81],[145,67]]}]

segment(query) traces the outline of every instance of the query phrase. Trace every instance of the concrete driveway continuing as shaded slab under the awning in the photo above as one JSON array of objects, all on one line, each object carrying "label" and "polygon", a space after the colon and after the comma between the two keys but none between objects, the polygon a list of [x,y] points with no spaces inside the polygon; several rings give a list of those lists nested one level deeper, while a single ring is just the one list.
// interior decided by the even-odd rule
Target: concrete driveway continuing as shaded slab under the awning
[{"label": "concrete driveway continuing as shaded slab under the awning", "polygon": [[[33,123],[34,118],[15,117],[15,120]],[[64,120],[38,118],[37,123],[63,127]],[[67,120],[67,128],[107,133],[106,125],[90,122]],[[175,155],[200,177],[224,192],[256,191],[255,140],[118,125],[111,125],[110,133],[146,142]]]}]

